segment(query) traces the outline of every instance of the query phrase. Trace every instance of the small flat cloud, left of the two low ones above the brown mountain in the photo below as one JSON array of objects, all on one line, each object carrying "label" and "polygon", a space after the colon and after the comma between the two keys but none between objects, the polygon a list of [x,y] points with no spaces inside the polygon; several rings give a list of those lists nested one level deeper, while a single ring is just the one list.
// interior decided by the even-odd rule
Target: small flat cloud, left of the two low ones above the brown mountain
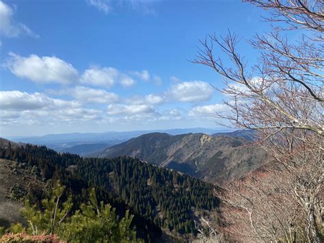
[{"label": "small flat cloud, left of the two low ones above the brown mountain", "polygon": [[107,106],[107,114],[109,115],[134,115],[146,114],[154,112],[150,105],[121,105],[111,104]]}]

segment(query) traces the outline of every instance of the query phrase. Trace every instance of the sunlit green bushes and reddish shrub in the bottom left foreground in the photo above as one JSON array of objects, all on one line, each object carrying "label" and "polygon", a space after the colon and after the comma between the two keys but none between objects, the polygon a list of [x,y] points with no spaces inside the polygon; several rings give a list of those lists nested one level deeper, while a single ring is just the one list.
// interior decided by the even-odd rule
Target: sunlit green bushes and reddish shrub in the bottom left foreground
[{"label": "sunlit green bushes and reddish shrub in the bottom left foreground", "polygon": [[[74,214],[69,197],[62,201],[65,187],[59,183],[53,188],[50,199],[42,200],[42,210],[26,201],[22,213],[27,227],[21,223],[11,225],[10,233],[2,236],[3,242],[24,240],[29,242],[141,242],[131,229],[133,216],[126,212],[124,218],[116,216],[111,205],[98,203],[94,189],[87,203],[82,203]],[[31,236],[33,235],[33,236]]]}]

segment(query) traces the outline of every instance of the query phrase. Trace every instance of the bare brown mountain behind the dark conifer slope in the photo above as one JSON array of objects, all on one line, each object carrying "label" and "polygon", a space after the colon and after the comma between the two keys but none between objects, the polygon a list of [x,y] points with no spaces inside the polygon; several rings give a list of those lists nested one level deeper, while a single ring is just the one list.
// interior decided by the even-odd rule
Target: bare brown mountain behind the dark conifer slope
[{"label": "bare brown mountain behind the dark conifer slope", "polygon": [[265,153],[244,138],[204,133],[148,133],[95,155],[137,157],[208,181],[241,177],[265,163]]}]

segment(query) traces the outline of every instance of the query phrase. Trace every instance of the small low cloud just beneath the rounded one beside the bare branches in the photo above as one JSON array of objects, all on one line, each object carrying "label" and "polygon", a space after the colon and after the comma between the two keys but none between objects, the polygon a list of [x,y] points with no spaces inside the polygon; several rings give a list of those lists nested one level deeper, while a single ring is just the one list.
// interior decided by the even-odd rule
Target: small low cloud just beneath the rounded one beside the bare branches
[{"label": "small low cloud just beneath the rounded one beside the bare branches", "polygon": [[228,112],[229,108],[225,104],[213,104],[213,105],[202,105],[193,107],[189,110],[189,116],[197,116],[197,117],[209,117],[215,118],[215,116],[224,112]]}]

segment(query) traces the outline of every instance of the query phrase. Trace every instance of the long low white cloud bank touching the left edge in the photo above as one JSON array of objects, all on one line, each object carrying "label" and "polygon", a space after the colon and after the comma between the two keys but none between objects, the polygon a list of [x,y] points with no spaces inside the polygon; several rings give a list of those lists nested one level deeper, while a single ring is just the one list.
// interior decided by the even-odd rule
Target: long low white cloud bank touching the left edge
[{"label": "long low white cloud bank touching the left edge", "polygon": [[101,118],[102,111],[86,109],[77,101],[53,99],[34,92],[18,90],[0,92],[1,125],[48,124],[49,121],[87,121]]}]

